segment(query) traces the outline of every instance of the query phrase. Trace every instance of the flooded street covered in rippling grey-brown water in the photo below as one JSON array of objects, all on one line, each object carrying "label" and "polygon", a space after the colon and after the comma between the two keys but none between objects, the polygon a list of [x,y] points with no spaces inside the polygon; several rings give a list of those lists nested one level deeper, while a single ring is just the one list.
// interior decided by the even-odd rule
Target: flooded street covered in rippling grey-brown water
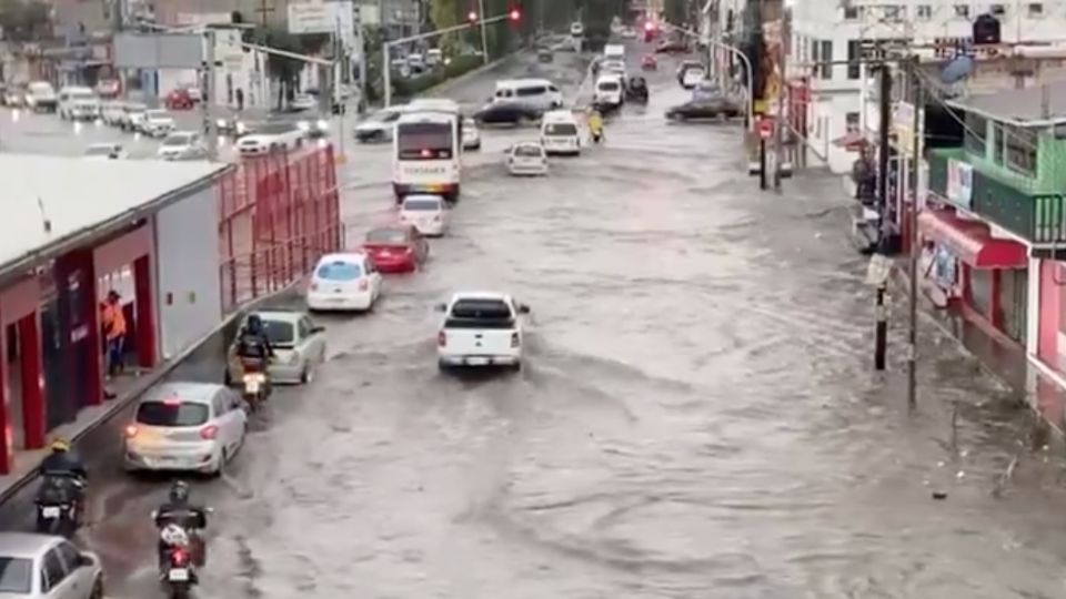
[{"label": "flooded street covered in rippling grey-brown water", "polygon": [[[571,93],[581,79],[512,69]],[[200,597],[1063,595],[1060,469],[1023,446],[1005,392],[927,324],[914,416],[896,374],[872,375],[838,180],[758,192],[736,125],[667,124],[685,97],[670,60],[651,83],[648,106],[547,177],[504,172],[534,131],[483,132],[426,267],[390,277],[373,314],[321,318],[315,382],[280,390],[225,476],[197,483],[215,509]],[[350,150],[352,245],[394,210],[385,148]],[[532,306],[521,374],[438,372],[432,306],[464,288]],[[177,376],[218,379],[218,352]],[[86,443],[82,540],[110,595],[143,599],[165,484],[117,470],[121,424]]]}]

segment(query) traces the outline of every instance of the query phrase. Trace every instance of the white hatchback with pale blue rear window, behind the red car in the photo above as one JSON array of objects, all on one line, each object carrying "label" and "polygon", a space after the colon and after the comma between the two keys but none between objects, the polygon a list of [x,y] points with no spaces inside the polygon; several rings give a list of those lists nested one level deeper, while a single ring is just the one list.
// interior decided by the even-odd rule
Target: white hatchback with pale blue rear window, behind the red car
[{"label": "white hatchback with pale blue rear window, behind the red car", "polygon": [[326,254],[308,287],[308,309],[368,311],[381,296],[381,273],[366,254]]}]

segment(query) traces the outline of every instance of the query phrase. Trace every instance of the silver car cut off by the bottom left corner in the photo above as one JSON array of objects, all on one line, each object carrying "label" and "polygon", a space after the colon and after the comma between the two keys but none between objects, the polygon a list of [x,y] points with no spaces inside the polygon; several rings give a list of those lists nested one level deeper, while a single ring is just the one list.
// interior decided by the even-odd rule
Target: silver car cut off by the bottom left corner
[{"label": "silver car cut off by the bottom left corner", "polygon": [[91,551],[51,535],[0,532],[0,593],[19,599],[102,599],[103,567]]}]

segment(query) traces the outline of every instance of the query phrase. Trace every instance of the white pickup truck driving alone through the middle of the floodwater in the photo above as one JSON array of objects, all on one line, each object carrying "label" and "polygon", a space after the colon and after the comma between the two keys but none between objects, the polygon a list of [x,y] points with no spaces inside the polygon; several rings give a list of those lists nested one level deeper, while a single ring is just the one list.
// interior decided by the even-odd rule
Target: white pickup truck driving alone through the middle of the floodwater
[{"label": "white pickup truck driving alone through the middle of the floodwater", "polygon": [[507,294],[456,293],[436,306],[444,322],[436,336],[441,369],[453,366],[507,366],[522,368],[521,316],[530,307]]}]

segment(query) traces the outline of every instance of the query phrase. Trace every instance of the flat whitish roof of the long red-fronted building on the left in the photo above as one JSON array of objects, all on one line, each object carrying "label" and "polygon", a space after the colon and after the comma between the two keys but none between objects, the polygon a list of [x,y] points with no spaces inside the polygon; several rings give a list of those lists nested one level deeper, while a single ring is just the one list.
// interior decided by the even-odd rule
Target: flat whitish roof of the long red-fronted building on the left
[{"label": "flat whitish roof of the long red-fronted building on the left", "polygon": [[[139,217],[139,209],[227,169],[227,164],[207,161],[99,161],[0,153],[0,173],[6,174],[0,186],[0,271],[122,216]],[[51,231],[44,221],[51,223]]]}]

